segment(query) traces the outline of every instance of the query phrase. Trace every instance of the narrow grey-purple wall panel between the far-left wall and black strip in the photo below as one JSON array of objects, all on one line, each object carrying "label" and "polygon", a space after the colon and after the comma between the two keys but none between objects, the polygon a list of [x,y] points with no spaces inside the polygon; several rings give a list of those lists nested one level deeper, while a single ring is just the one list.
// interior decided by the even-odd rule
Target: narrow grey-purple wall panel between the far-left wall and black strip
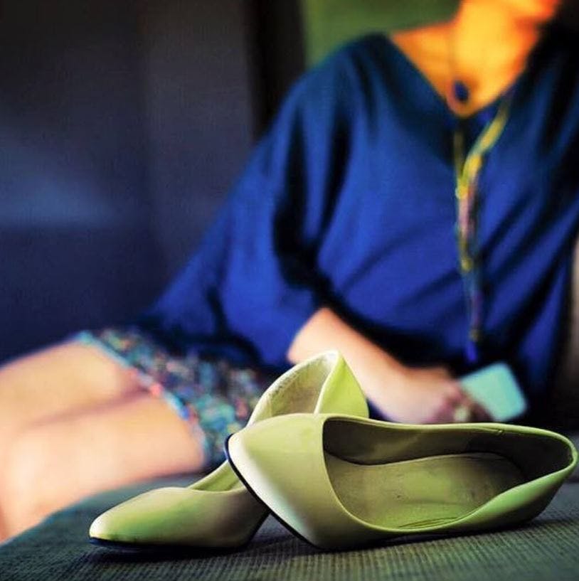
[{"label": "narrow grey-purple wall panel between the far-left wall and black strip", "polygon": [[240,0],[150,0],[142,14],[149,185],[169,276],[253,143],[246,10]]}]

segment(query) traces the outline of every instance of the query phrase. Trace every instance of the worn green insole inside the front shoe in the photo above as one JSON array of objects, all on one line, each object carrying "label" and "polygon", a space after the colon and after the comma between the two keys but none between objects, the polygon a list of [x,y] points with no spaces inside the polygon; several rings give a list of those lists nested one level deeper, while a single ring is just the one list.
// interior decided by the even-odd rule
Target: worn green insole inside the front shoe
[{"label": "worn green insole inside the front shoe", "polygon": [[334,491],[352,514],[387,528],[442,525],[525,481],[508,459],[487,452],[388,464],[354,464],[326,453]]}]

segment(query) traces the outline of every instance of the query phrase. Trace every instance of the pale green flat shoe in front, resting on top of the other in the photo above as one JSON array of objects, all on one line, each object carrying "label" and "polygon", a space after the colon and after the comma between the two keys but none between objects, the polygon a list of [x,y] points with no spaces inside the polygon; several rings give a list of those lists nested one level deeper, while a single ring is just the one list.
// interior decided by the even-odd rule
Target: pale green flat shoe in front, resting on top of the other
[{"label": "pale green flat shoe in front, resting on top of the other", "polygon": [[265,420],[225,449],[248,489],[323,549],[528,521],[577,464],[573,444],[547,430],[334,414]]}]

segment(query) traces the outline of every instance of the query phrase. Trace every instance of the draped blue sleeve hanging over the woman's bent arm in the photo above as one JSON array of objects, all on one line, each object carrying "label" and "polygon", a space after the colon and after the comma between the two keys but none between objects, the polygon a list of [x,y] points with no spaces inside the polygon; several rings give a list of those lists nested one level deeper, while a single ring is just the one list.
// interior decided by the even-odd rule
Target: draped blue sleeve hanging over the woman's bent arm
[{"label": "draped blue sleeve hanging over the woman's bent arm", "polygon": [[317,247],[344,166],[346,61],[335,53],[294,85],[201,245],[138,326],[181,351],[287,366],[294,335],[324,303]]}]

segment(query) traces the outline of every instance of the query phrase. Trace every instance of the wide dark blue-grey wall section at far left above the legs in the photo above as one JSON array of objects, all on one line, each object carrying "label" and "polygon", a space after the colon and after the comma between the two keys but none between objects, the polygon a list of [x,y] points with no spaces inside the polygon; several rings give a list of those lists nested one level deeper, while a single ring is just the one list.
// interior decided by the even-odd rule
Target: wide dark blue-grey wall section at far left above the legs
[{"label": "wide dark blue-grey wall section at far left above the legs", "polygon": [[0,358],[119,321],[159,286],[134,7],[2,3]]}]

